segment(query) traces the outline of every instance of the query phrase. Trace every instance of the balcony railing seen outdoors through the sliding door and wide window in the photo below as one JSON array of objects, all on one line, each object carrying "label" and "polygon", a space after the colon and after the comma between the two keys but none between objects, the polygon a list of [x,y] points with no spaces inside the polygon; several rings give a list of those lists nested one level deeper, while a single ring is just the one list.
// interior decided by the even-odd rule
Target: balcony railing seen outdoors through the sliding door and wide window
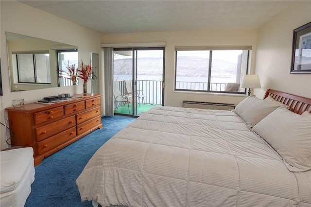
[{"label": "balcony railing seen outdoors through the sliding door and wide window", "polygon": [[[119,82],[119,89],[121,94],[126,93],[125,82]],[[132,80],[131,80],[132,84]],[[224,91],[224,83],[210,83],[210,89],[214,91]],[[202,82],[186,82],[179,81],[176,82],[176,87],[178,89],[188,89],[188,90],[207,90],[207,83]],[[137,89],[142,90],[144,94],[145,104],[162,104],[162,81],[153,80],[137,80]],[[139,100],[140,103],[142,100]]]}]

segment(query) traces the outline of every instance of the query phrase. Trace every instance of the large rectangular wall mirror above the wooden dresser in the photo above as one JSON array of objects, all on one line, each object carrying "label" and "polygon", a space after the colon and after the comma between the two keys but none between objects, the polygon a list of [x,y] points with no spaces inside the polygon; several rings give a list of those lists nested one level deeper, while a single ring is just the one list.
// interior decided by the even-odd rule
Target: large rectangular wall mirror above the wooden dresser
[{"label": "large rectangular wall mirror above the wooden dresser", "polygon": [[6,40],[11,92],[73,85],[66,71],[78,68],[77,46],[10,32]]}]

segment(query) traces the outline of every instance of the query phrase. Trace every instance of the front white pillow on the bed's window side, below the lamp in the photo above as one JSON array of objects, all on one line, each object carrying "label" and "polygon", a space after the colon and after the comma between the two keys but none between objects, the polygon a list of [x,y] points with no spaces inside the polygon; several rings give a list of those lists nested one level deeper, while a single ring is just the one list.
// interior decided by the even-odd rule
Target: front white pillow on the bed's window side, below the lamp
[{"label": "front white pillow on the bed's window side, below the lamp", "polygon": [[248,96],[233,111],[238,114],[250,127],[253,127],[268,114],[283,107],[257,98],[255,95]]}]

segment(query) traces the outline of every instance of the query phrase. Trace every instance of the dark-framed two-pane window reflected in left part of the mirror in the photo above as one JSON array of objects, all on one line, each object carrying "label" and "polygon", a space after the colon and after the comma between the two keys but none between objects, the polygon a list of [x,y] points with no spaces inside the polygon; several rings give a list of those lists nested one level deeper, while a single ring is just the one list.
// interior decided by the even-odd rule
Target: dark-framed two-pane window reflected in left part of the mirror
[{"label": "dark-framed two-pane window reflected in left part of the mirror", "polygon": [[12,54],[18,83],[51,84],[48,52]]}]

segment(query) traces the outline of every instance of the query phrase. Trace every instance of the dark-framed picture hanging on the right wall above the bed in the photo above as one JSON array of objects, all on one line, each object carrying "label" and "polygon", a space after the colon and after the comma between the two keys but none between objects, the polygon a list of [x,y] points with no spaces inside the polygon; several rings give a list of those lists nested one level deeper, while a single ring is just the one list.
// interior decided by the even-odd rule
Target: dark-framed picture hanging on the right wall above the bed
[{"label": "dark-framed picture hanging on the right wall above the bed", "polygon": [[294,29],[291,73],[311,73],[311,22]]}]

